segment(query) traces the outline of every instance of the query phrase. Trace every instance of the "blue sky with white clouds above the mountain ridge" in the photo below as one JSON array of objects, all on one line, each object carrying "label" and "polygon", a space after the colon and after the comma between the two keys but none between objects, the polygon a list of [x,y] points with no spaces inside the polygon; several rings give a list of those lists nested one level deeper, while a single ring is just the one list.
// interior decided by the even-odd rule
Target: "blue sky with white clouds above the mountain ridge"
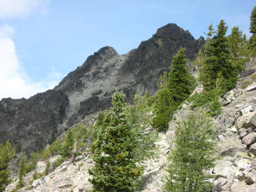
[{"label": "blue sky with white clouds above the mountain ridge", "polygon": [[255,0],[0,0],[0,99],[56,86],[109,45],[126,54],[175,23],[195,37],[224,19],[249,37]]}]

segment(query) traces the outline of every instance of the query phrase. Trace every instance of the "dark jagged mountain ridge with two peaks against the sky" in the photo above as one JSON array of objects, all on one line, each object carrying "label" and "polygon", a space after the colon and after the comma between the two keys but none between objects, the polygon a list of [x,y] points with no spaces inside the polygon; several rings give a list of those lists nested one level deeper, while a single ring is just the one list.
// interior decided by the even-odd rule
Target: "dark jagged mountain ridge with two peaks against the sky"
[{"label": "dark jagged mountain ridge with two peaks against the sky", "polygon": [[191,60],[203,45],[204,38],[195,40],[176,24],[167,24],[127,54],[103,47],[53,90],[29,99],[2,99],[0,143],[10,140],[24,152],[44,148],[84,116],[108,109],[116,88],[129,102],[136,92],[154,94],[157,78],[168,70],[177,50],[185,47]]}]

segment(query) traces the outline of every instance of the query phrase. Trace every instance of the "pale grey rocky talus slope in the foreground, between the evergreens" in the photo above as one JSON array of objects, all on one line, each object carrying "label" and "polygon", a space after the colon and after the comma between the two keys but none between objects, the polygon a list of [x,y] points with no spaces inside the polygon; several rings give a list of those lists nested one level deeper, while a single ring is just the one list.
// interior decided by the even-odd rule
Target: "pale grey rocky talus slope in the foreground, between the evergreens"
[{"label": "pale grey rocky talus slope in the foreground, between the evergreens", "polygon": [[[207,170],[214,175],[213,191],[253,192],[256,191],[256,65],[240,75],[236,88],[226,93],[221,103],[221,114],[212,119],[215,129],[215,138],[218,143],[220,159],[212,170]],[[254,78],[253,78],[254,77]],[[252,84],[244,86],[244,83]],[[202,92],[202,86],[198,86],[195,92]],[[182,121],[190,113],[198,109],[190,109],[192,103],[185,102],[173,115],[166,133],[159,134],[157,141],[157,154],[159,157],[145,163],[145,173],[141,182],[141,191],[163,191],[164,175],[167,154],[173,148],[173,136],[177,121]],[[86,121],[95,120],[91,115]],[[52,157],[50,161],[60,158]],[[20,191],[88,191],[92,184],[88,182],[87,170],[93,165],[87,152],[76,157],[74,163],[66,161],[54,172],[28,184]],[[45,162],[40,161],[36,166],[38,173],[44,172]],[[26,175],[26,182],[32,179],[33,172]],[[6,191],[12,191],[15,182],[10,184]]]}]

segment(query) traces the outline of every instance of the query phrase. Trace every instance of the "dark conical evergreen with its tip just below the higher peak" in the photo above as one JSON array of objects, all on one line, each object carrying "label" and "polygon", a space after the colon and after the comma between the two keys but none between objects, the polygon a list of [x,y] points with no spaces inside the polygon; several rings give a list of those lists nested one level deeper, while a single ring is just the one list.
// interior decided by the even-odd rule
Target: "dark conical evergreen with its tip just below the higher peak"
[{"label": "dark conical evergreen with its tip just below the higher peak", "polygon": [[177,106],[188,98],[190,74],[186,68],[185,49],[180,48],[173,56],[170,72],[168,73],[167,87]]}]

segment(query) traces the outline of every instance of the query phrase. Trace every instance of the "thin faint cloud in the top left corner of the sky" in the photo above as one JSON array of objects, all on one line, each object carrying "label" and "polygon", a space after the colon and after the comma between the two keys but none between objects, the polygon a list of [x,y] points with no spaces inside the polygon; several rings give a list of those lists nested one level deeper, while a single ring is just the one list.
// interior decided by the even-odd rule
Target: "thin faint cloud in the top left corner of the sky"
[{"label": "thin faint cloud in the top left corner of the sky", "polygon": [[26,17],[31,13],[45,14],[48,0],[0,0],[0,19]]}]

